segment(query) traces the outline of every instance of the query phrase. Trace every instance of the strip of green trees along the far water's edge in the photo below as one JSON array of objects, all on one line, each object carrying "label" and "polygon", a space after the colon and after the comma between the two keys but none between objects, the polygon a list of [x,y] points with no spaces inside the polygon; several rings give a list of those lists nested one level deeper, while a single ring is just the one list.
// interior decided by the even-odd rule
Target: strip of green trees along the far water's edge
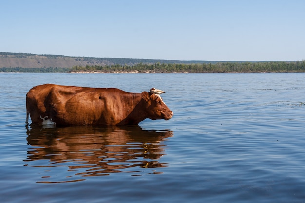
[{"label": "strip of green trees along the far water's edge", "polygon": [[261,73],[261,72],[305,72],[305,60],[271,62],[217,62],[217,63],[137,63],[134,65],[73,66],[72,68],[0,68],[0,72],[37,73]]}]

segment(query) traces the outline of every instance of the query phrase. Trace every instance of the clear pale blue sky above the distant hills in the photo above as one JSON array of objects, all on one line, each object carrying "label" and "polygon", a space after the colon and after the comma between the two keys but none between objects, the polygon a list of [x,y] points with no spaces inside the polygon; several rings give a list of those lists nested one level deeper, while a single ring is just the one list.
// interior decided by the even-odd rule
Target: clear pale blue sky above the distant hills
[{"label": "clear pale blue sky above the distant hills", "polygon": [[305,59],[305,0],[1,0],[0,52]]}]

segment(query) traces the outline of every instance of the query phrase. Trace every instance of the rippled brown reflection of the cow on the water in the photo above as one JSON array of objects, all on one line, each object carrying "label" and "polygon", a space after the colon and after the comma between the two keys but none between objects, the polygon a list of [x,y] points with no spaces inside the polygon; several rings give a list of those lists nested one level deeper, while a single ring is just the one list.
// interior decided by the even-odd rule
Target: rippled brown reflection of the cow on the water
[{"label": "rippled brown reflection of the cow on the water", "polygon": [[[165,154],[162,141],[173,136],[169,130],[149,131],[139,126],[42,128],[27,130],[26,166],[67,166],[74,175],[98,176],[137,172],[138,167],[165,167],[157,160]],[[39,164],[36,162],[39,160]],[[41,160],[48,160],[45,166]],[[58,174],[57,174],[58,175]]]}]

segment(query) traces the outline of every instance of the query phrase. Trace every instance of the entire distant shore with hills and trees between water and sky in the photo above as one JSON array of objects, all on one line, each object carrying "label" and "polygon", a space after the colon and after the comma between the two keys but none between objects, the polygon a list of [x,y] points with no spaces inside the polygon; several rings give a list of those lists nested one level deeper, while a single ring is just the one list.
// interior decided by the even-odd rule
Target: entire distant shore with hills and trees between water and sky
[{"label": "entire distant shore with hills and trees between water and sky", "polygon": [[302,61],[179,61],[0,52],[0,72],[31,73],[301,73]]}]

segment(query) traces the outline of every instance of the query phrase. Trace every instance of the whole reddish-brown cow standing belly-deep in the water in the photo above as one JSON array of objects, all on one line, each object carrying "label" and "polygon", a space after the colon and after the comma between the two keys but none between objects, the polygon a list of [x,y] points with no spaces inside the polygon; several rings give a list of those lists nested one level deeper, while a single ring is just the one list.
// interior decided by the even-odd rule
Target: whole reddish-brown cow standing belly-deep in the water
[{"label": "whole reddish-brown cow standing belly-deep in the water", "polygon": [[146,118],[172,118],[173,112],[152,90],[129,93],[116,88],[39,85],[26,94],[26,123],[29,114],[32,123],[53,126],[134,125]]}]

